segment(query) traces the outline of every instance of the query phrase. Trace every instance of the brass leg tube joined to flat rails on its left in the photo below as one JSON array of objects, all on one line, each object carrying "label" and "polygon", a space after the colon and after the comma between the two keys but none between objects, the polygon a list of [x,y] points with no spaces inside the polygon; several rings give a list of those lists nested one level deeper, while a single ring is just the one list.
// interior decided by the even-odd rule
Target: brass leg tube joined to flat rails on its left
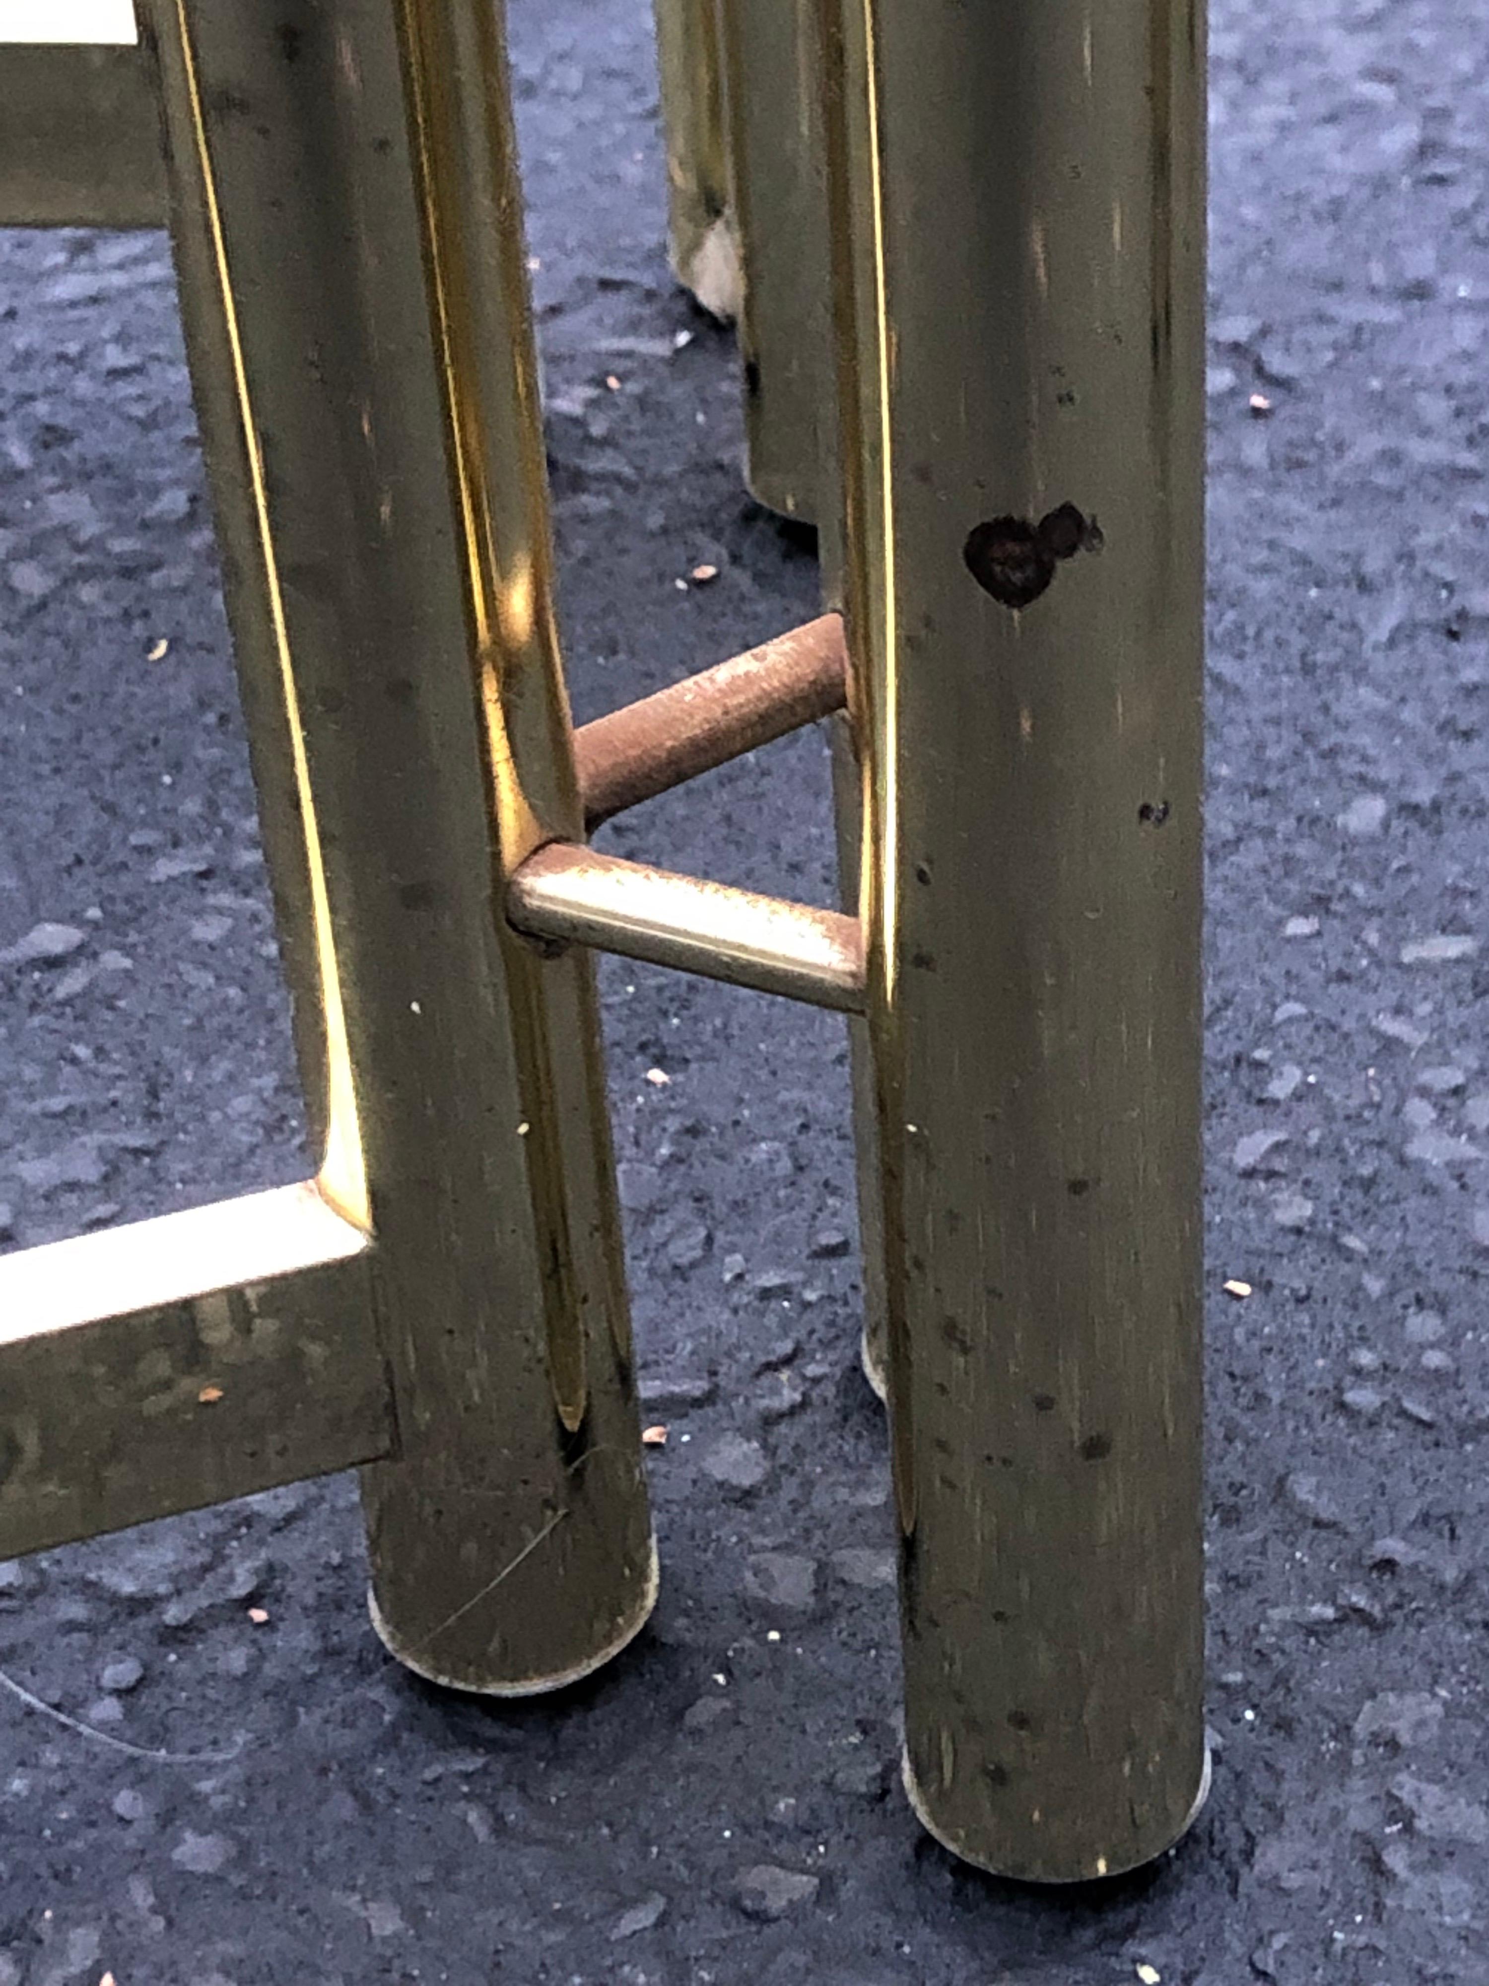
[{"label": "brass leg tube joined to flat rails on its left", "polygon": [[498,16],[141,16],[322,1182],[377,1237],[373,1623],[437,1682],[554,1688],[657,1569],[592,969],[500,912],[580,818]]}]

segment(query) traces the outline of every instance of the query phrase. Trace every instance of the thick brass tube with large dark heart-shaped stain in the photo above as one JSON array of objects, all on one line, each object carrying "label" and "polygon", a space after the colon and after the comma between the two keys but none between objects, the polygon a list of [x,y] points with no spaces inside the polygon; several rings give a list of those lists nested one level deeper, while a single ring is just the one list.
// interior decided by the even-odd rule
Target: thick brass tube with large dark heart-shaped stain
[{"label": "thick brass tube with large dark heart-shaped stain", "polygon": [[1203,1799],[1201,0],[820,0],[905,1785]]}]

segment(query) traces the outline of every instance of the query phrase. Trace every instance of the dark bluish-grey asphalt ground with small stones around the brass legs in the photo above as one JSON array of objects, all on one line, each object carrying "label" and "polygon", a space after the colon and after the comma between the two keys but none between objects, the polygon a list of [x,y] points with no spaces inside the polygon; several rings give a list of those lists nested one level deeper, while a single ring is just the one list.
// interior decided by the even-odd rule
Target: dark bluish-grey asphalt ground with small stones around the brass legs
[{"label": "dark bluish-grey asphalt ground with small stones around the brass legs", "polygon": [[[818,582],[667,276],[645,0],[512,34],[584,719]],[[0,1688],[0,1986],[1489,1980],[1487,91],[1463,0],[1219,0],[1189,1839],[1036,1893],[921,1835],[842,1023],[604,961],[653,1625],[550,1700],[423,1684],[351,1476],[0,1565],[0,1674],[89,1728]],[[214,586],[165,240],[0,234],[0,949],[71,931],[0,967],[4,1245],[306,1164]],[[824,739],[602,840],[832,902]]]}]

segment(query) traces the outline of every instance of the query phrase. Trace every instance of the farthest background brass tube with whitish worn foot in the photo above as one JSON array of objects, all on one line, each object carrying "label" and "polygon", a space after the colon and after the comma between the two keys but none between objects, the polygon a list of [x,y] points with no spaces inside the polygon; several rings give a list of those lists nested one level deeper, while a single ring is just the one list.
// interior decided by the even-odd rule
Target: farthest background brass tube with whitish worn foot
[{"label": "farthest background brass tube with whitish worn foot", "polygon": [[715,318],[739,316],[739,234],[717,0],[653,0],[667,143],[667,250],[673,274]]}]

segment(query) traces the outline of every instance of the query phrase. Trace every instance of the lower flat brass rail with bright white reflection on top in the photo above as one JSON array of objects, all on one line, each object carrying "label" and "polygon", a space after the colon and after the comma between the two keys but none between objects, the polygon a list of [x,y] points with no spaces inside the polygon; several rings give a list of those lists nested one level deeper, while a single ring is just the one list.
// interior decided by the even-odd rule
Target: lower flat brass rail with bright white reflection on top
[{"label": "lower flat brass rail with bright white reflection on top", "polygon": [[371,1255],[304,1182],[0,1259],[0,1559],[389,1456]]}]

